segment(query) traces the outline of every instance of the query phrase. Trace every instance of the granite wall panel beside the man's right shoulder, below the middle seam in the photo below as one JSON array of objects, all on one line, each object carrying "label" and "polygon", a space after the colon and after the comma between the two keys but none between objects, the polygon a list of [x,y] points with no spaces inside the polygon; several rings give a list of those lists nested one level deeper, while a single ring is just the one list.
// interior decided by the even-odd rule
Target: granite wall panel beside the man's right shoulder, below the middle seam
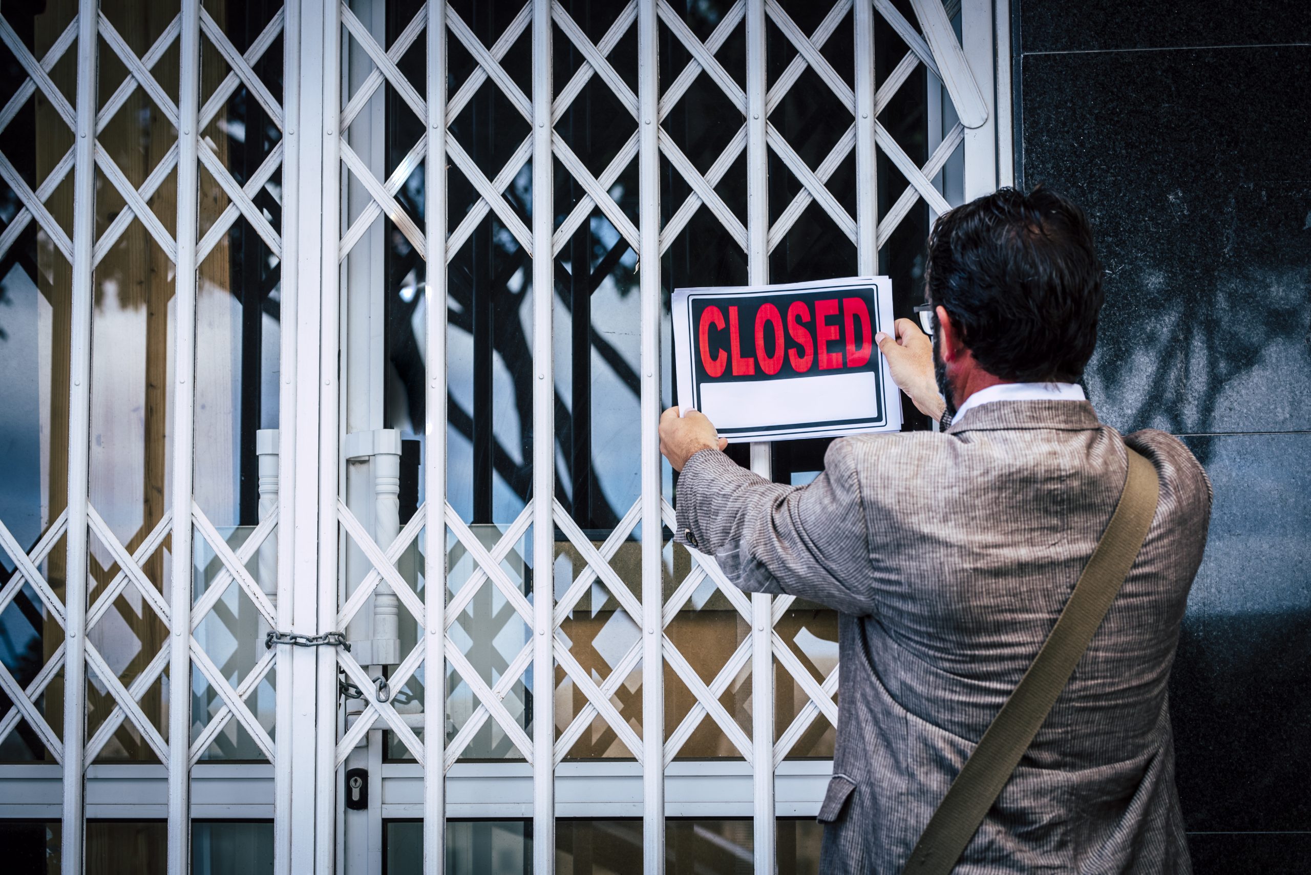
[{"label": "granite wall panel beside the man's right shoulder, below the middle seam", "polygon": [[1311,434],[1184,441],[1215,494],[1171,684],[1184,819],[1311,830]]}]

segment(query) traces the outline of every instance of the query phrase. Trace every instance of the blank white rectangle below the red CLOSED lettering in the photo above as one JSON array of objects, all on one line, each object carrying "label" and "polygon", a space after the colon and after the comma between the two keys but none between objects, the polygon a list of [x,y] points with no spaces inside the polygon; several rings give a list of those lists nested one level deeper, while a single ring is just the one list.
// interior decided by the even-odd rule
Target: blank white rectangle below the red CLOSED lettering
[{"label": "blank white rectangle below the red CLOSED lettering", "polygon": [[[779,411],[791,414],[787,419]],[[787,427],[878,415],[878,375],[873,371],[823,377],[703,382],[701,413],[717,428]]]}]

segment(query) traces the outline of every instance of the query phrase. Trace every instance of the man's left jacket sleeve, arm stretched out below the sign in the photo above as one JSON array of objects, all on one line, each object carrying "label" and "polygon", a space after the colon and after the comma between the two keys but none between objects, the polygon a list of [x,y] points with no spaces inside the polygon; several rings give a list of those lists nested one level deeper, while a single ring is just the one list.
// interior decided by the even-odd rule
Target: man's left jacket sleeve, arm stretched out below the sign
[{"label": "man's left jacket sleeve, arm stretched out below the sign", "polygon": [[860,483],[848,441],[829,447],[808,486],[771,483],[714,451],[678,481],[676,540],[711,554],[735,586],[850,614],[874,612]]}]

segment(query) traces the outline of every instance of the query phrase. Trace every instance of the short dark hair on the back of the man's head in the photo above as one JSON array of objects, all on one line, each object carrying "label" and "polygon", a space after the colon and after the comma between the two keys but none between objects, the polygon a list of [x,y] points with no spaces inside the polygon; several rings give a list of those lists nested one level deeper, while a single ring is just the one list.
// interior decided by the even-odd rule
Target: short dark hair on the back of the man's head
[{"label": "short dark hair on the back of the man's head", "polygon": [[1097,343],[1101,265],[1083,210],[1042,186],[1000,189],[945,214],[928,237],[928,300],[988,373],[1083,376]]}]

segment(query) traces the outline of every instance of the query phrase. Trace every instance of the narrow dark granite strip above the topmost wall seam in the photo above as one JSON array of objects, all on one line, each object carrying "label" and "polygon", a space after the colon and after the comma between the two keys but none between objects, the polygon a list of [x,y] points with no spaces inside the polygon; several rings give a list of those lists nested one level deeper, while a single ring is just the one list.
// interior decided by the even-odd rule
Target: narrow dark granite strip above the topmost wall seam
[{"label": "narrow dark granite strip above the topmost wall seam", "polygon": [[1027,54],[1311,42],[1306,0],[1019,0],[1019,7]]}]

